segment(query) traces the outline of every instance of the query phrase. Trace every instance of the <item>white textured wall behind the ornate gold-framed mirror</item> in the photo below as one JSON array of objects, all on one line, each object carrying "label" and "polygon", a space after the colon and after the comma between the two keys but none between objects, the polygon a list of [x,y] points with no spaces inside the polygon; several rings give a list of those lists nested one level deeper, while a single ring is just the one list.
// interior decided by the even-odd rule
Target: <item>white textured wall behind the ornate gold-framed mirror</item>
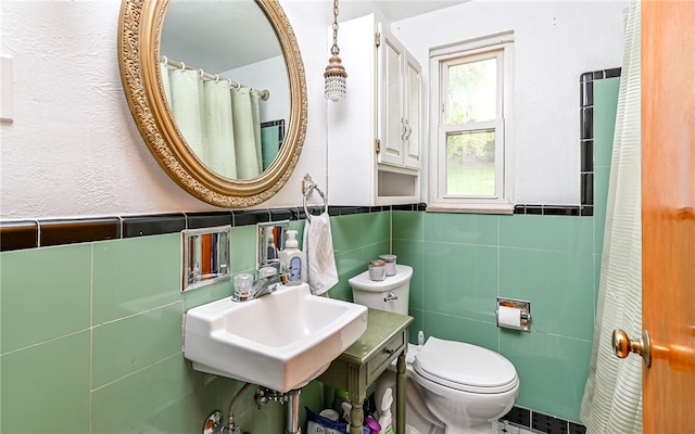
[{"label": "white textured wall behind the ornate gold-framed mirror", "polygon": [[[260,207],[300,206],[306,173],[326,183],[323,63],[331,9],[321,15],[316,7],[283,5],[304,56],[308,130],[288,184]],[[3,0],[1,8],[14,122],[0,124],[0,219],[218,209],[169,180],[140,137],[118,71],[119,0]]]}]

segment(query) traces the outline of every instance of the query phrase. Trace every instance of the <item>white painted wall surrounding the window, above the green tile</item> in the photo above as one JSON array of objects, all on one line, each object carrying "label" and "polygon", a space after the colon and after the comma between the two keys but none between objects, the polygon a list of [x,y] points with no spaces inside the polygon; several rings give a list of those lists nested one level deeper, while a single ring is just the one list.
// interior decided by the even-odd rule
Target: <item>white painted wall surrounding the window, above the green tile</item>
[{"label": "white painted wall surrounding the window, above the green tile", "polygon": [[[622,65],[628,4],[476,0],[396,22],[392,31],[421,63],[424,89],[429,89],[431,47],[514,30],[515,201],[578,205],[579,79],[585,72]],[[427,92],[425,102],[429,107]],[[428,110],[424,113],[429,126]]]}]

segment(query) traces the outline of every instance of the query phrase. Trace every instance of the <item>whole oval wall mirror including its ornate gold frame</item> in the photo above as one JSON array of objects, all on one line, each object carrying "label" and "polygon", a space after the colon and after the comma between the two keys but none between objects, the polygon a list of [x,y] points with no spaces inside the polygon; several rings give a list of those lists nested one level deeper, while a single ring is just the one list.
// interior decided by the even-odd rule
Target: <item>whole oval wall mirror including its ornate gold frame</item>
[{"label": "whole oval wall mirror including its ornate gold frame", "polygon": [[275,195],[306,132],[304,66],[277,0],[124,0],[130,112],[181,188],[238,208]]}]

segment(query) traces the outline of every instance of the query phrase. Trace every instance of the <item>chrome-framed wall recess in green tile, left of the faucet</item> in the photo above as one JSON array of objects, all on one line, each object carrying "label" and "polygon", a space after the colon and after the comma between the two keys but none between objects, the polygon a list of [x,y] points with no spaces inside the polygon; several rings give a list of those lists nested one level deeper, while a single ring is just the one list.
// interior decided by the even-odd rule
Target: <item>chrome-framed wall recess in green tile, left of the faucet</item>
[{"label": "chrome-framed wall recess in green tile, left of the faucet", "polygon": [[231,278],[230,226],[188,229],[184,244],[182,290],[188,291]]}]

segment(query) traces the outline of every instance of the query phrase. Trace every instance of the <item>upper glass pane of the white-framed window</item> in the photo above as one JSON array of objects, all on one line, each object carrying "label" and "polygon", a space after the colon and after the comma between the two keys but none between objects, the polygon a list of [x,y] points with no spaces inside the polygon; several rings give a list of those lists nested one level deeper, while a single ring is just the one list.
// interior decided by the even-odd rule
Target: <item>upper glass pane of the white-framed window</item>
[{"label": "upper glass pane of the white-framed window", "polygon": [[483,122],[497,117],[497,61],[448,66],[447,124]]}]

